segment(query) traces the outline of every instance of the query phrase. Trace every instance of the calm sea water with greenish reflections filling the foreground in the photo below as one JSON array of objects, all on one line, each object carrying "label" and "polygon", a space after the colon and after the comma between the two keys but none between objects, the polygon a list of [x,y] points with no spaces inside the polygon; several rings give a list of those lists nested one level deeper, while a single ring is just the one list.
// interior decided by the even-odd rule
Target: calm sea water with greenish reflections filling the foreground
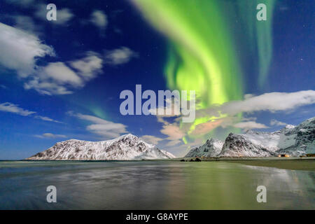
[{"label": "calm sea water with greenish reflections filling the foreground", "polygon": [[0,209],[315,209],[314,180],[229,162],[0,162]]}]

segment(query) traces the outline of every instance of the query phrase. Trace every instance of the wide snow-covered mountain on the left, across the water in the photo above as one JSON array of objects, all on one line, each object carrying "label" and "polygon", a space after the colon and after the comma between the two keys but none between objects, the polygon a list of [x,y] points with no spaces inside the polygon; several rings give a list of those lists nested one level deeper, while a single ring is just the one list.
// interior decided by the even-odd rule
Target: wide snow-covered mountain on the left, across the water
[{"label": "wide snow-covered mountain on the left, across the water", "polygon": [[142,160],[175,158],[132,134],[108,141],[67,140],[27,160]]}]

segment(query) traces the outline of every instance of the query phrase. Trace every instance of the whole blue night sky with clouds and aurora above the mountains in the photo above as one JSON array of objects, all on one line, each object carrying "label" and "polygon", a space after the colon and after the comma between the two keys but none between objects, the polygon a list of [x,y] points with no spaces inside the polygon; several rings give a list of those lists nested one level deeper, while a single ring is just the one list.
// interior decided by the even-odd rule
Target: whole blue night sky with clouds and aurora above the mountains
[{"label": "whole blue night sky with clouds and aurora above the mountains", "polygon": [[[211,16],[205,1],[192,13],[186,0],[172,1],[165,10],[164,0],[1,0],[0,159],[27,158],[66,139],[127,133],[181,156],[210,137],[275,131],[314,117],[314,1],[261,1],[272,8],[260,23],[249,0],[213,1]],[[57,21],[46,19],[48,3],[57,6]],[[210,54],[216,59],[203,64],[199,55]],[[167,71],[172,64],[176,69]],[[208,66],[222,72],[207,73]],[[221,75],[220,92],[204,100]],[[192,90],[195,80],[202,80],[201,121],[120,114],[120,92],[135,92],[136,84],[143,91]]]}]

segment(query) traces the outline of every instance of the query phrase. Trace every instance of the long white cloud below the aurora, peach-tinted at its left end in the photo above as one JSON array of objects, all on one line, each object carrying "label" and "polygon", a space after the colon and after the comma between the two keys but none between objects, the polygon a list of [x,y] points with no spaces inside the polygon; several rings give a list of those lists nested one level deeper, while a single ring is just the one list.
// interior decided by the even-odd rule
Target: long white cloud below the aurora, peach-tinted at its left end
[{"label": "long white cloud below the aurora, peach-tinted at its left end", "polygon": [[[163,123],[162,134],[167,134],[167,139],[174,141],[169,144],[180,146],[179,141],[187,135],[205,137],[217,127],[239,127],[242,129],[264,129],[267,125],[256,123],[256,118],[244,118],[240,120],[239,113],[269,111],[271,113],[284,112],[290,113],[300,106],[315,103],[315,91],[305,90],[300,92],[270,92],[255,96],[246,94],[244,100],[227,102],[222,105],[214,105],[209,109],[196,111],[196,119],[209,117],[209,121],[193,126],[193,123],[182,123],[178,121],[181,117],[175,118],[174,123],[167,123],[164,118],[158,117],[158,122]],[[272,124],[276,124],[273,122]],[[278,123],[279,125],[283,123]],[[177,141],[177,142],[176,142]]]}]

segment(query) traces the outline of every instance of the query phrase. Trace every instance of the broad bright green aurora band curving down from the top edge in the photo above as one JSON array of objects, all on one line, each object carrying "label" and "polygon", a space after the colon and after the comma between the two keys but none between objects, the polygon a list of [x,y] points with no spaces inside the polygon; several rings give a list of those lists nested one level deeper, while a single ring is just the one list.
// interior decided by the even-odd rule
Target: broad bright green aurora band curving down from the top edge
[{"label": "broad bright green aurora band curving down from the top edge", "polygon": [[135,2],[169,38],[165,76],[171,89],[196,90],[200,108],[241,98],[241,71],[216,1]]}]

